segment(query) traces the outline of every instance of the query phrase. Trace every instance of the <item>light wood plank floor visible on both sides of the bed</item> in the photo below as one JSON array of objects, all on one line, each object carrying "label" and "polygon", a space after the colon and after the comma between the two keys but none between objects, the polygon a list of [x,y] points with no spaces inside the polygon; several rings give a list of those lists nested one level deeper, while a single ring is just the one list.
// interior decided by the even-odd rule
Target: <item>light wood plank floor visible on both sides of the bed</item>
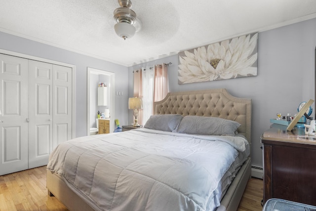
[{"label": "light wood plank floor visible on both sides of the bed", "polygon": [[[250,179],[237,211],[262,211],[263,181]],[[0,211],[67,211],[46,189],[46,166],[0,176]]]}]

